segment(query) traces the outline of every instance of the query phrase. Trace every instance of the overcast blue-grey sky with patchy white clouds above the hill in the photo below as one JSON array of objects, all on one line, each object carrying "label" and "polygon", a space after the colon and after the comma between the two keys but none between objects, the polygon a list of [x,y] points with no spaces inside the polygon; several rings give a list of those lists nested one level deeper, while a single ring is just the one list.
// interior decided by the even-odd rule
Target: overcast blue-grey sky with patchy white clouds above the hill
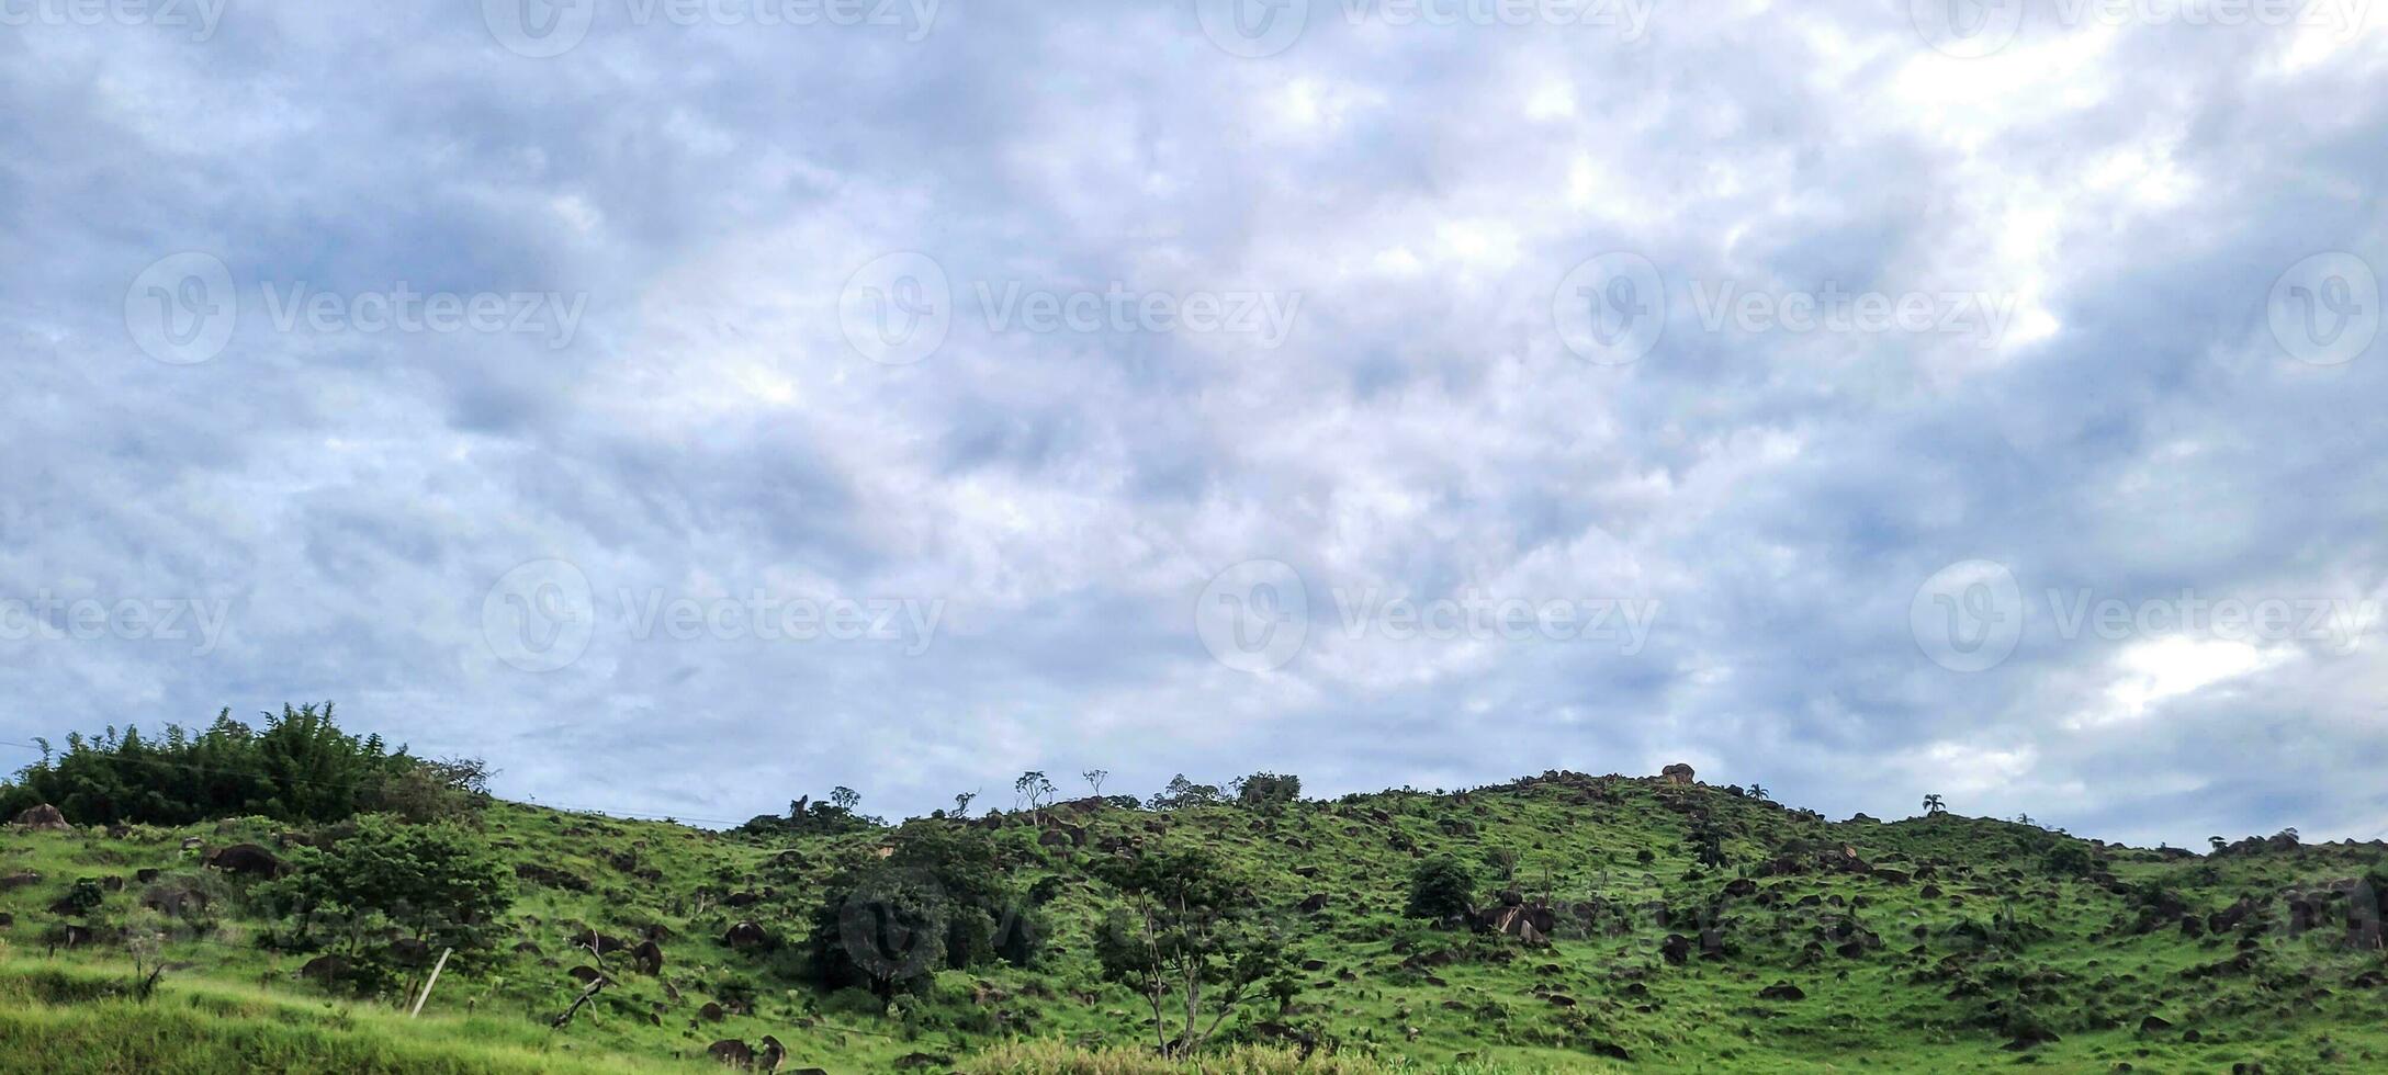
[{"label": "overcast blue-grey sky with patchy white clouds above the hill", "polygon": [[2364,0],[7,0],[0,762],[2374,836],[2383,88]]}]

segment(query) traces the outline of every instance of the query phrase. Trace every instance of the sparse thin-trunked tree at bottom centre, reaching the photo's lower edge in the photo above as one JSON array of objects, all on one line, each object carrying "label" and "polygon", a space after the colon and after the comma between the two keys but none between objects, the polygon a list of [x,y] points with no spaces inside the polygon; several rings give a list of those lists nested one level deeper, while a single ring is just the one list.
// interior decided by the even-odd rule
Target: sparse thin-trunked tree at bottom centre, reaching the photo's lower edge
[{"label": "sparse thin-trunked tree at bottom centre, reaching the photo's lower edge", "polygon": [[1103,979],[1146,999],[1163,1054],[1199,1051],[1247,1001],[1275,996],[1282,1008],[1299,991],[1285,934],[1215,850],[1161,846],[1106,877],[1127,905],[1096,932],[1094,956]]}]

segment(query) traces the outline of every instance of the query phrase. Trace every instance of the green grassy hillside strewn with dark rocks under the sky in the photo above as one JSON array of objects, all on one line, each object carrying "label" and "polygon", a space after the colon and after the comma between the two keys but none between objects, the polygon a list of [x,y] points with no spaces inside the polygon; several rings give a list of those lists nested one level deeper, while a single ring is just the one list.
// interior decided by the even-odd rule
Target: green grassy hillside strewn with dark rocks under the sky
[{"label": "green grassy hillside strewn with dark rocks under the sky", "polygon": [[[1094,958],[1122,901],[1106,862],[1206,846],[1249,877],[1299,968],[1290,1001],[1227,1018],[1206,1070],[1290,1070],[1301,1054],[1316,1070],[1481,1073],[2388,1063],[2388,965],[2350,944],[2350,915],[2367,941],[2350,908],[2371,896],[2376,843],[2152,853],[1956,815],[1827,822],[1738,788],[1583,774],[1165,812],[1087,800],[841,834],[509,803],[473,824],[513,903],[501,941],[454,963],[420,1020],[401,1010],[411,982],[346,999],[301,979],[318,953],[260,905],[265,882],[201,865],[229,843],[272,848],[287,827],[10,829],[0,1056],[62,1073],[719,1070],[712,1042],[769,1034],[781,1070],[1163,1070],[1146,999]],[[819,987],[807,934],[833,877],[924,834],[993,855],[1020,922],[1041,929],[1034,958],[941,970],[891,1006]],[[1507,929],[1404,915],[1411,872],[1438,855],[1476,870],[1469,903]],[[100,901],[67,913],[79,879]],[[205,910],[143,908],[160,891],[201,893]],[[762,939],[733,946],[740,922]],[[69,924],[88,936],[64,944]],[[628,951],[642,939],[659,972]],[[552,1027],[590,975],[609,984]]]}]

